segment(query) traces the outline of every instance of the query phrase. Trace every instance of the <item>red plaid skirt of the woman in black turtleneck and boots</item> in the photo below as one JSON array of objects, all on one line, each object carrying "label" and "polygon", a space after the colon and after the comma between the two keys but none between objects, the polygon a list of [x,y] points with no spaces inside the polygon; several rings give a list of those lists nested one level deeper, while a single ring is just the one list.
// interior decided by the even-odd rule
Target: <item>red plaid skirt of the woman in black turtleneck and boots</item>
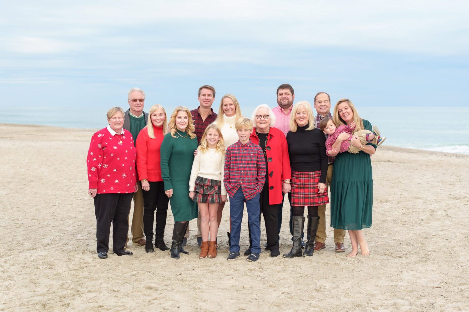
[{"label": "red plaid skirt of the woman in black turtleneck and boots", "polygon": [[327,185],[325,191],[318,193],[321,171],[292,171],[292,206],[319,206],[329,203]]}]

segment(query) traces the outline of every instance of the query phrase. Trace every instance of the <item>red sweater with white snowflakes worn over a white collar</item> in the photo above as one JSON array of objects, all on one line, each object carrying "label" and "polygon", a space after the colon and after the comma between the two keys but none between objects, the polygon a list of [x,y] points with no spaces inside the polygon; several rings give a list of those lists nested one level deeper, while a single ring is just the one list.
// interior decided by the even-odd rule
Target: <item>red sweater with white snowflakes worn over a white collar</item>
[{"label": "red sweater with white snowflakes worn over a white collar", "polygon": [[[123,130],[123,129],[122,129]],[[134,139],[129,131],[113,136],[107,128],[91,137],[86,164],[90,189],[103,193],[133,193],[135,191]],[[122,140],[122,143],[119,142]]]}]

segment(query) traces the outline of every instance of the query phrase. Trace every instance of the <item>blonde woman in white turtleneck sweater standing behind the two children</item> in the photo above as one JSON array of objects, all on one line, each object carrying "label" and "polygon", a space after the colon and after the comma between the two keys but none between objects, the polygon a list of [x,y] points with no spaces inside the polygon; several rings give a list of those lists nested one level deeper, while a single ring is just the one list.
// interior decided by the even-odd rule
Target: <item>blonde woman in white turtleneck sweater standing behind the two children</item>
[{"label": "blonde woman in white turtleneck sweater standing behind the two children", "polygon": [[[234,128],[234,123],[242,117],[241,108],[239,107],[239,102],[236,100],[236,97],[233,94],[225,94],[221,98],[220,109],[218,111],[217,119],[213,122],[217,124],[221,129],[221,134],[225,140],[225,148],[238,142],[238,134]],[[218,225],[221,222],[221,215],[223,213],[223,208],[225,203],[219,203],[218,206]],[[230,221],[230,232],[231,232],[231,221]],[[228,244],[230,242],[230,232],[228,232]]]}]

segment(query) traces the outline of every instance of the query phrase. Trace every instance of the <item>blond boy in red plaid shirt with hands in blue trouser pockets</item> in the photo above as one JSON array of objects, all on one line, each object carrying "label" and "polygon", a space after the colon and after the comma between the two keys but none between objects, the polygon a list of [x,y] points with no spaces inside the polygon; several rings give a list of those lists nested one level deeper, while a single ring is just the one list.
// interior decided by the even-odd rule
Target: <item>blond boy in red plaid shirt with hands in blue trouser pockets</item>
[{"label": "blond boy in red plaid shirt with hands in blue trouser pockets", "polygon": [[231,246],[227,260],[236,260],[240,256],[239,238],[244,202],[252,238],[251,254],[247,260],[257,261],[261,252],[259,194],[265,183],[265,159],[262,148],[250,141],[253,127],[249,118],[238,119],[235,128],[239,140],[230,145],[225,153],[223,183],[230,197],[231,217]]}]

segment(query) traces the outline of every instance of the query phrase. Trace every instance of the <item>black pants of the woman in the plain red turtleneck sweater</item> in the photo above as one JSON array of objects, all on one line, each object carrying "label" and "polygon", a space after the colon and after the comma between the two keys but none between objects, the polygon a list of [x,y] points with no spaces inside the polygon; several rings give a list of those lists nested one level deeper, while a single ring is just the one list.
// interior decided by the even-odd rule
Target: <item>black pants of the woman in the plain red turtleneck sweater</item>
[{"label": "black pants of the woman in the plain red turtleneck sweater", "polygon": [[153,239],[153,218],[156,210],[156,239],[163,239],[166,227],[166,212],[169,198],[165,194],[163,181],[149,182],[150,189],[142,190],[144,196],[144,233],[146,239]]}]

